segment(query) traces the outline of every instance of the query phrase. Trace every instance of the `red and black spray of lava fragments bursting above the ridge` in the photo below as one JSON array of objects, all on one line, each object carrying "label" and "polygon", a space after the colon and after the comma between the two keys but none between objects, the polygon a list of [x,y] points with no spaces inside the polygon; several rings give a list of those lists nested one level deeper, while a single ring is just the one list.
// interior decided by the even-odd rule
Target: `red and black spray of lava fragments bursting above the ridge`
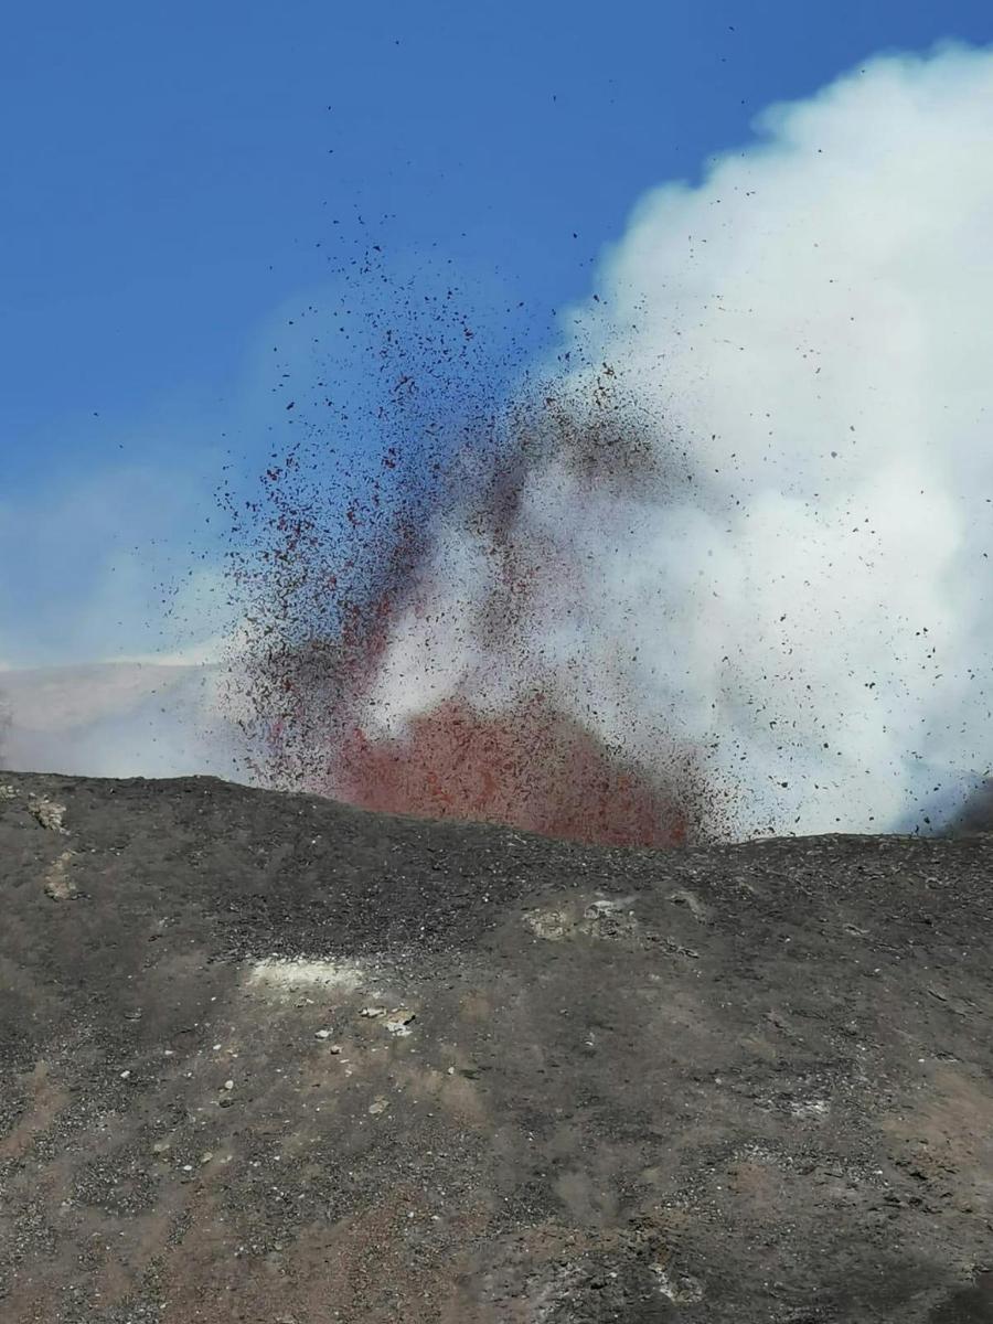
[{"label": "red and black spray of lava fragments bursting above the ridge", "polygon": [[[444,330],[450,335],[448,320]],[[409,432],[421,401],[416,376],[400,376],[402,397],[388,418]],[[609,377],[585,422],[551,393],[551,380],[475,408],[449,454],[433,455],[429,482],[421,474],[392,483],[401,459],[389,448],[381,473],[343,506],[315,481],[326,469],[322,429],[267,470],[263,499],[246,516],[236,511],[232,563],[253,604],[248,663],[240,651],[236,674],[257,777],[368,809],[580,841],[674,845],[699,834],[695,752],[659,732],[645,763],[624,740],[605,740],[561,702],[534,632],[535,613],[553,610],[575,579],[563,548],[518,534],[539,458],[557,455],[628,493],[655,470],[617,412]],[[422,436],[428,425],[418,422]],[[340,508],[344,538],[335,532]],[[438,565],[442,520],[471,545],[473,564]],[[477,647],[478,666],[457,677],[451,665]],[[387,694],[393,685],[399,703]]]}]

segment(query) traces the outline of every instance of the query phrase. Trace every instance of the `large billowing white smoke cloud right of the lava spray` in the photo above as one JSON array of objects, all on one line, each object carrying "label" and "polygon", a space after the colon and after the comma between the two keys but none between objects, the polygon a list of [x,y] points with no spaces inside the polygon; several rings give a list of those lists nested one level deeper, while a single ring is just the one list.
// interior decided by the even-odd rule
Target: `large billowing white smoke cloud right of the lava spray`
[{"label": "large billowing white smoke cloud right of the lava spray", "polygon": [[568,319],[559,391],[609,365],[654,477],[532,466],[512,542],[568,575],[503,655],[449,519],[367,720],[508,702],[527,638],[608,740],[699,751],[735,835],[910,825],[993,760],[993,53],[879,58],[757,128],[642,200]]}]

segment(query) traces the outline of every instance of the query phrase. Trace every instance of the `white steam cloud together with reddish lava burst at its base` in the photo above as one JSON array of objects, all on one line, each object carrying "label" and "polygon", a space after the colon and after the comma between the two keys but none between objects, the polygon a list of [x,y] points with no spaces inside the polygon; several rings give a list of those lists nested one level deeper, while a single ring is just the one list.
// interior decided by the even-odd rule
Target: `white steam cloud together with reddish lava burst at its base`
[{"label": "white steam cloud together with reddish lava burst at its base", "polygon": [[642,201],[416,534],[359,540],[342,637],[260,634],[270,775],[561,829],[551,759],[634,841],[936,824],[985,775],[993,54],[760,128]]}]

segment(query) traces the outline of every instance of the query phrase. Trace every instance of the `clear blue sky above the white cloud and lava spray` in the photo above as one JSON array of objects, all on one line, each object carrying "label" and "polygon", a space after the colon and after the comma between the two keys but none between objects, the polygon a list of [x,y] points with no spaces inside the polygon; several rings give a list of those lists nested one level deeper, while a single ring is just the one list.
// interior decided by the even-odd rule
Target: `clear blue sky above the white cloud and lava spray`
[{"label": "clear blue sky above the white cloud and lava spray", "polygon": [[[483,305],[524,301],[515,332],[538,340],[646,188],[696,177],[765,105],[880,50],[988,42],[993,15],[57,0],[11,9],[4,38],[0,661],[29,661],[109,637],[99,610],[83,628],[58,609],[109,543],[158,577],[181,563],[224,446],[246,469],[261,454],[269,342],[364,234],[408,270],[450,262]],[[150,463],[175,478],[151,520],[120,477]],[[109,514],[87,500],[111,473]],[[180,549],[156,560],[152,539]],[[19,547],[36,564],[12,576]]]}]

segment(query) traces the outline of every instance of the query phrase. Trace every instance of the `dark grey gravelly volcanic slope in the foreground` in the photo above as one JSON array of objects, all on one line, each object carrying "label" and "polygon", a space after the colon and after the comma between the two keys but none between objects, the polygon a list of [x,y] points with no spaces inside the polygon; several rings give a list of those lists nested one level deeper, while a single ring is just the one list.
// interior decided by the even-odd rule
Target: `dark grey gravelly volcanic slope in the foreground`
[{"label": "dark grey gravelly volcanic slope in the foreground", "polygon": [[0,775],[0,1317],[993,1320],[992,865]]}]

